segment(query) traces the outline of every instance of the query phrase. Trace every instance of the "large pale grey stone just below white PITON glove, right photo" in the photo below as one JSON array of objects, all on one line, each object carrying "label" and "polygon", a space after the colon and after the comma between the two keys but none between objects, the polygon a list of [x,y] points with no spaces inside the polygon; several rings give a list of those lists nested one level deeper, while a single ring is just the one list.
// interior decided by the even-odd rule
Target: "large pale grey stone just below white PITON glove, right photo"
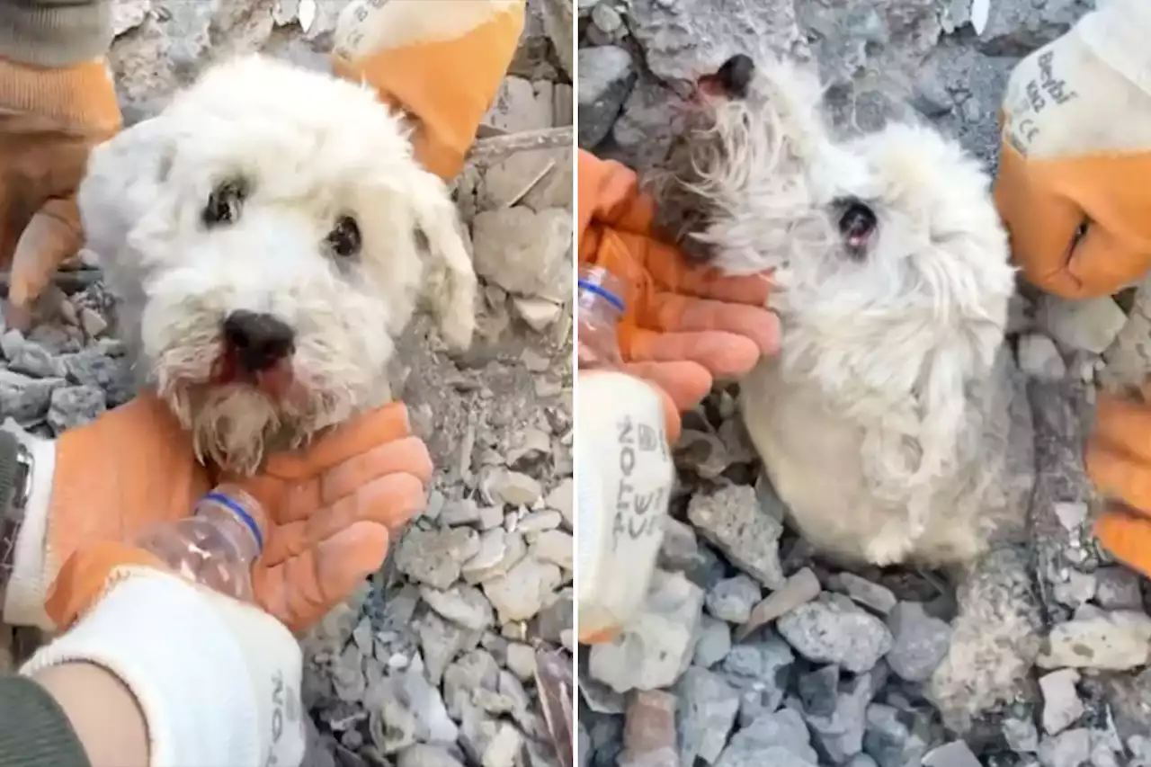
[{"label": "large pale grey stone just below white PITON glove, right photo", "polygon": [[588,673],[617,692],[671,685],[691,663],[702,614],[699,586],[656,570],[642,609],[611,643],[592,647]]}]

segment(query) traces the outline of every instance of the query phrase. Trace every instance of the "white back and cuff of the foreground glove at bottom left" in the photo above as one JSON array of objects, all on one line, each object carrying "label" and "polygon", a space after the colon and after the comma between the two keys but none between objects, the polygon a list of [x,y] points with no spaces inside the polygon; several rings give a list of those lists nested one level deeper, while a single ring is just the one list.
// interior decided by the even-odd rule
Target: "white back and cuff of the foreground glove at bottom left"
[{"label": "white back and cuff of the foreground glove at bottom left", "polygon": [[[262,693],[274,697],[274,691],[246,683],[252,662],[238,635],[256,633],[269,662],[298,666],[299,650],[287,629],[254,608],[157,570],[124,568],[106,583],[113,585],[96,606],[20,673],[33,676],[69,662],[113,673],[144,713],[152,767],[280,764],[268,761],[274,736],[261,727],[270,719],[261,712],[273,705]],[[221,609],[220,602],[229,605]],[[247,614],[237,618],[229,608]],[[237,625],[244,621],[251,624]],[[289,691],[279,692],[284,705]]]}]

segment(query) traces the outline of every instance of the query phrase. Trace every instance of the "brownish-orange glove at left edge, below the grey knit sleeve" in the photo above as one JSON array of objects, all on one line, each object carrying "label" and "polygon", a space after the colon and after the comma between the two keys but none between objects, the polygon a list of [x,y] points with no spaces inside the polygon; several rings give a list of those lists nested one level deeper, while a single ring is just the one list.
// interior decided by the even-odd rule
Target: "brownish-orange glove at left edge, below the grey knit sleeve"
[{"label": "brownish-orange glove at left edge, below the grey knit sleeve", "polygon": [[87,153],[120,130],[102,60],[45,69],[0,60],[0,268],[12,268],[9,325],[84,241],[75,192]]}]

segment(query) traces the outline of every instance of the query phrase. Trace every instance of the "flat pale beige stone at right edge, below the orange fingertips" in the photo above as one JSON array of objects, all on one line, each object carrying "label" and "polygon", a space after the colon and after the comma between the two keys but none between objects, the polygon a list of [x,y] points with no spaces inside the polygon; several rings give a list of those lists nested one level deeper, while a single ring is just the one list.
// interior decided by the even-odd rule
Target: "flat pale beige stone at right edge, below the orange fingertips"
[{"label": "flat pale beige stone at right edge, below the orange fingertips", "polygon": [[1123,670],[1151,660],[1151,617],[1114,610],[1060,623],[1044,640],[1039,668]]}]

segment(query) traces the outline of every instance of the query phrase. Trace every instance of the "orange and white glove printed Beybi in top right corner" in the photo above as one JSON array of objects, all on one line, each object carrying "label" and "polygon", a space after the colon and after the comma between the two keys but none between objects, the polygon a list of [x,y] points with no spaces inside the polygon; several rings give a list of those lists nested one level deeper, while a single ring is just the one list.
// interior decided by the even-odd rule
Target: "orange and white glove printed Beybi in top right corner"
[{"label": "orange and white glove printed Beybi in top right corner", "polygon": [[1020,62],[996,204],[1027,279],[1103,296],[1151,266],[1151,3],[1108,0]]}]

